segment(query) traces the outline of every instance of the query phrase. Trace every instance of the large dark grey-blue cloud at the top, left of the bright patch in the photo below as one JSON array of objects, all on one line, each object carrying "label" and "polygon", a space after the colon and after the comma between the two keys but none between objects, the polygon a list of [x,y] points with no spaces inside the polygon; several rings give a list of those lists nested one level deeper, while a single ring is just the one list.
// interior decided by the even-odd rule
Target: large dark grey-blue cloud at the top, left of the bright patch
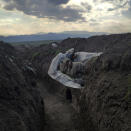
[{"label": "large dark grey-blue cloud at the top, left of the bright patch", "polygon": [[64,21],[84,21],[82,10],[72,9],[71,7],[62,8],[69,0],[5,0],[6,10],[17,9],[28,15],[39,18],[50,18]]}]

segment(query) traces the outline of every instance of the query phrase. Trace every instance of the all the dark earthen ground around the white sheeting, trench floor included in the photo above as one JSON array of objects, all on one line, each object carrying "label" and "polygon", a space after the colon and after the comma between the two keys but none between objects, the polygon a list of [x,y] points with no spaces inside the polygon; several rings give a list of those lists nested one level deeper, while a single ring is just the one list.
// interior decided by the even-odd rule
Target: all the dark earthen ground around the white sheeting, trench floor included
[{"label": "all the dark earthen ground around the white sheeting, trench floor included", "polygon": [[[66,87],[47,71],[55,55],[72,47],[103,54],[86,63],[86,86],[71,89],[70,104]],[[57,48],[49,44],[15,49],[1,42],[0,59],[0,130],[131,130],[130,33],[69,38]]]}]

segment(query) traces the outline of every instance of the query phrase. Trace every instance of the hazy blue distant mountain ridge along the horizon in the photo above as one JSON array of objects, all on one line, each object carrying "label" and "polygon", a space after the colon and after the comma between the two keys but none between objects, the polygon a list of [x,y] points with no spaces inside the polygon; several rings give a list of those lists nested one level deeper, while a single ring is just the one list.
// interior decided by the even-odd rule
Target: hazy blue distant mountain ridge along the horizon
[{"label": "hazy blue distant mountain ridge along the horizon", "polygon": [[94,35],[107,34],[104,32],[87,32],[87,31],[65,31],[61,33],[38,33],[32,35],[16,35],[16,36],[0,36],[0,40],[4,42],[24,42],[24,41],[40,41],[40,40],[63,40],[68,37],[88,38]]}]

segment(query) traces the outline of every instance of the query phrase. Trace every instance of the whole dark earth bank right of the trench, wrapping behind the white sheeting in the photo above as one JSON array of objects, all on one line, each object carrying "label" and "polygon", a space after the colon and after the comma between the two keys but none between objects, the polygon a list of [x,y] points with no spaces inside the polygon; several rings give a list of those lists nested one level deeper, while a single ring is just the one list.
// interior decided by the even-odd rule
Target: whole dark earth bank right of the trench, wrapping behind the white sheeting
[{"label": "whole dark earth bank right of the trench, wrapping behind the white sheeting", "polygon": [[[102,51],[86,64],[86,87],[76,94],[72,90],[77,111],[78,131],[129,131],[131,108],[131,34],[69,38],[54,48],[42,45],[25,52],[22,59],[31,62],[44,88],[63,95],[65,87],[48,74],[51,60],[59,52],[74,47],[76,51]],[[74,104],[74,103],[73,103]]]}]

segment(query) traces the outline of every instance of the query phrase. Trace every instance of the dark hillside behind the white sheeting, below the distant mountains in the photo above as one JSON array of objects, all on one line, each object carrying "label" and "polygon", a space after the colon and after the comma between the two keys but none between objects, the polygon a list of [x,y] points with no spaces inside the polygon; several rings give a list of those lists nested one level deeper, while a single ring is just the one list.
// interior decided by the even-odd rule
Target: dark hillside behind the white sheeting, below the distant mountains
[{"label": "dark hillside behind the white sheeting, below the distant mountains", "polygon": [[[41,45],[36,48],[27,50],[24,53],[25,58],[32,61],[35,68],[43,75],[47,74],[52,58],[59,52],[64,52],[70,48],[75,48],[76,51],[88,52],[105,52],[106,50],[115,50],[119,53],[125,51],[131,41],[131,34],[118,34],[118,35],[103,35],[93,36],[90,38],[68,38],[58,44],[57,48],[53,48],[51,44]],[[46,71],[46,73],[45,73]]]}]

